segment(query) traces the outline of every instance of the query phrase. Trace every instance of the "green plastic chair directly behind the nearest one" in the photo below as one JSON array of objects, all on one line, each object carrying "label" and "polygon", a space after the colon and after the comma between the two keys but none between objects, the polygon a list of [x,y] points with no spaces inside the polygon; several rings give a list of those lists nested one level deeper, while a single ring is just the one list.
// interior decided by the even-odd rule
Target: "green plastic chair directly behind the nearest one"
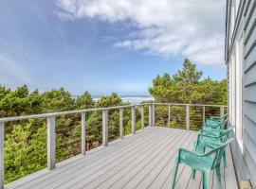
[{"label": "green plastic chair directly behind the nearest one", "polygon": [[[207,132],[198,132],[197,139],[194,143],[194,150],[205,153],[206,147],[215,148],[227,142],[229,133],[234,127],[229,129],[209,129]],[[227,167],[226,151],[223,152],[223,164]]]}]

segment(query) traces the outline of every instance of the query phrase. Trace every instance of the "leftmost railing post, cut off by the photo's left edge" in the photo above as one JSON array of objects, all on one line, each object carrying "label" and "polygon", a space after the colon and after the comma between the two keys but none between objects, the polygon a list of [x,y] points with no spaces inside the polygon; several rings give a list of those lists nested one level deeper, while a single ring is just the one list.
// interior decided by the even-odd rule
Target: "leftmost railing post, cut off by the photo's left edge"
[{"label": "leftmost railing post, cut off by the photo's left edge", "polygon": [[0,188],[5,184],[5,124],[0,122]]}]

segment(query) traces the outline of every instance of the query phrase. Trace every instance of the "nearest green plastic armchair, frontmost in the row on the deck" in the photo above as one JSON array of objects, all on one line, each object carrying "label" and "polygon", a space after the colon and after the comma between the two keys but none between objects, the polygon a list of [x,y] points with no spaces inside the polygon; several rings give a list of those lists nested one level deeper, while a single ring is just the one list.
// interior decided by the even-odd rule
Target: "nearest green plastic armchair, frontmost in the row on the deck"
[{"label": "nearest green plastic armchair, frontmost in the row on the deck", "polygon": [[[179,163],[185,163],[192,167],[192,170],[198,170],[202,173],[203,177],[203,189],[209,188],[209,177],[210,171],[216,169],[216,177],[218,181],[218,188],[221,189],[221,173],[220,173],[220,163],[221,157],[225,148],[233,139],[229,139],[226,143],[218,146],[214,149],[211,149],[207,153],[199,153],[197,151],[190,151],[188,149],[179,148],[178,150],[178,157],[175,162],[174,167],[174,175],[172,181],[172,188],[174,189],[175,180],[177,176],[178,166]],[[194,179],[194,174],[192,173],[192,179]]]}]

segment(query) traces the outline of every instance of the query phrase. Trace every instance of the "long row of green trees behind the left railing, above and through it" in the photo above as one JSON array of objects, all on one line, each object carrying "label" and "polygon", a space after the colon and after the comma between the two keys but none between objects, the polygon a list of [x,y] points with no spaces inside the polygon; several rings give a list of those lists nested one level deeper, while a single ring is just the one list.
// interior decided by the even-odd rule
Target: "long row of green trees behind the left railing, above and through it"
[{"label": "long row of green trees behind the left railing, above and through it", "polygon": [[[27,86],[9,90],[0,86],[1,117],[44,112],[99,108],[123,105],[118,94],[102,96],[95,103],[85,92],[76,99],[64,88],[40,94],[29,93]],[[87,149],[101,145],[101,112],[86,113]],[[128,121],[126,121],[127,123]],[[5,181],[17,180],[46,167],[46,119],[30,119],[6,124]],[[119,111],[109,112],[109,138],[119,136]],[[56,117],[56,161],[61,162],[81,153],[81,115]]]}]

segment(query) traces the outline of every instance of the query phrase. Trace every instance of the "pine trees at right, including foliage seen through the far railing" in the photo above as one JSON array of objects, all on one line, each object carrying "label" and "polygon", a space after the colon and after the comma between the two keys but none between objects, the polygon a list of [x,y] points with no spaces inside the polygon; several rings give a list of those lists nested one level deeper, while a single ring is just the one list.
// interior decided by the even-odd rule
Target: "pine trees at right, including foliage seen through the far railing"
[{"label": "pine trees at right, including foliage seen through the far railing", "polygon": [[[153,86],[149,93],[158,102],[184,103],[184,104],[227,104],[227,79],[220,81],[210,77],[202,79],[203,73],[196,70],[195,64],[185,60],[183,67],[177,74],[171,77],[169,74],[157,76],[153,79]],[[201,125],[202,110],[191,107],[191,126],[198,129]],[[216,110],[209,109],[207,113],[214,114]],[[166,126],[168,111],[160,106],[155,108],[156,125]],[[171,107],[170,127],[185,128],[185,108],[180,106]]]}]

